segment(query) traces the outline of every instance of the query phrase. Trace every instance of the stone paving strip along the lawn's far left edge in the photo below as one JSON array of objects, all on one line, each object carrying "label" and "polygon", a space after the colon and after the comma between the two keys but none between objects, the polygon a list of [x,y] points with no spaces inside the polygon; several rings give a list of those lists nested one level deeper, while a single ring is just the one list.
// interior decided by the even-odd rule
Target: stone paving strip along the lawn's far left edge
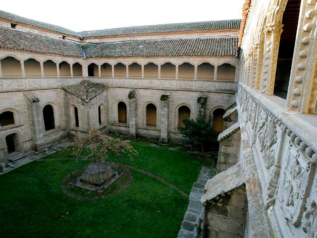
[{"label": "stone paving strip along the lawn's far left edge", "polygon": [[5,174],[16,168],[19,168],[20,166],[30,163],[31,161],[38,160],[46,155],[52,154],[60,149],[63,149],[67,147],[70,143],[71,141],[66,139],[52,146],[49,146],[49,148],[45,149],[44,151],[41,151],[38,154],[34,152],[30,152],[30,153],[27,153],[26,157],[19,159],[17,161],[14,161],[14,162],[6,161],[4,162],[4,164],[6,165],[5,172],[0,172],[0,175]]}]

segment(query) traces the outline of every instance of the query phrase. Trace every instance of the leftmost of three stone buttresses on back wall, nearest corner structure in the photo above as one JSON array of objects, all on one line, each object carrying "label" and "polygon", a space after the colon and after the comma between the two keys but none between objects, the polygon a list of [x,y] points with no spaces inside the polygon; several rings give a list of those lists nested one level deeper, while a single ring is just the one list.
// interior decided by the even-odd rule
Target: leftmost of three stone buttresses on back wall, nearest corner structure
[{"label": "leftmost of three stone buttresses on back wall, nearest corner structure", "polygon": [[137,93],[134,90],[129,92],[129,139],[136,140],[138,138],[138,103]]}]

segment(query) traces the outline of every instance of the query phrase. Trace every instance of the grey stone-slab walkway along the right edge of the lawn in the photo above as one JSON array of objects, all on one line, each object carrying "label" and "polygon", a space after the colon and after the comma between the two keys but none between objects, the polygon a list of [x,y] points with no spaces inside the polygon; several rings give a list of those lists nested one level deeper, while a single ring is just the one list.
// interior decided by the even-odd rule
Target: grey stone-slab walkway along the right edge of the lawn
[{"label": "grey stone-slab walkway along the right edge of the lawn", "polygon": [[205,207],[200,202],[204,187],[208,179],[211,179],[211,169],[203,167],[193,188],[189,194],[189,205],[184,216],[184,220],[178,232],[178,238],[197,238],[201,237]]}]

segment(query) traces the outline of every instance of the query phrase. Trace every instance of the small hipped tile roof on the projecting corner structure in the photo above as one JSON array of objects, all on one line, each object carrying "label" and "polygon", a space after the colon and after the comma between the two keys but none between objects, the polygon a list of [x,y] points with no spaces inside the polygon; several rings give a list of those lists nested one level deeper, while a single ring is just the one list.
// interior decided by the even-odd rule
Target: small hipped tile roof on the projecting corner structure
[{"label": "small hipped tile roof on the projecting corner structure", "polygon": [[70,94],[79,97],[88,103],[94,97],[104,92],[107,89],[107,85],[83,80],[79,84],[64,85],[62,88]]}]

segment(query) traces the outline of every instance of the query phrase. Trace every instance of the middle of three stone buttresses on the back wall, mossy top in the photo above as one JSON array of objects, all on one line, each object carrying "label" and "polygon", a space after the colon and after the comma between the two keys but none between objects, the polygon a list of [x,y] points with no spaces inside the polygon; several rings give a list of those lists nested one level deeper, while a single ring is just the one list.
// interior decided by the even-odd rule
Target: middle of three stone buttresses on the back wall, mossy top
[{"label": "middle of three stone buttresses on the back wall, mossy top", "polygon": [[165,92],[160,96],[160,101],[162,103],[160,110],[160,137],[159,141],[167,143],[168,136],[168,125],[169,125],[169,92]]}]

